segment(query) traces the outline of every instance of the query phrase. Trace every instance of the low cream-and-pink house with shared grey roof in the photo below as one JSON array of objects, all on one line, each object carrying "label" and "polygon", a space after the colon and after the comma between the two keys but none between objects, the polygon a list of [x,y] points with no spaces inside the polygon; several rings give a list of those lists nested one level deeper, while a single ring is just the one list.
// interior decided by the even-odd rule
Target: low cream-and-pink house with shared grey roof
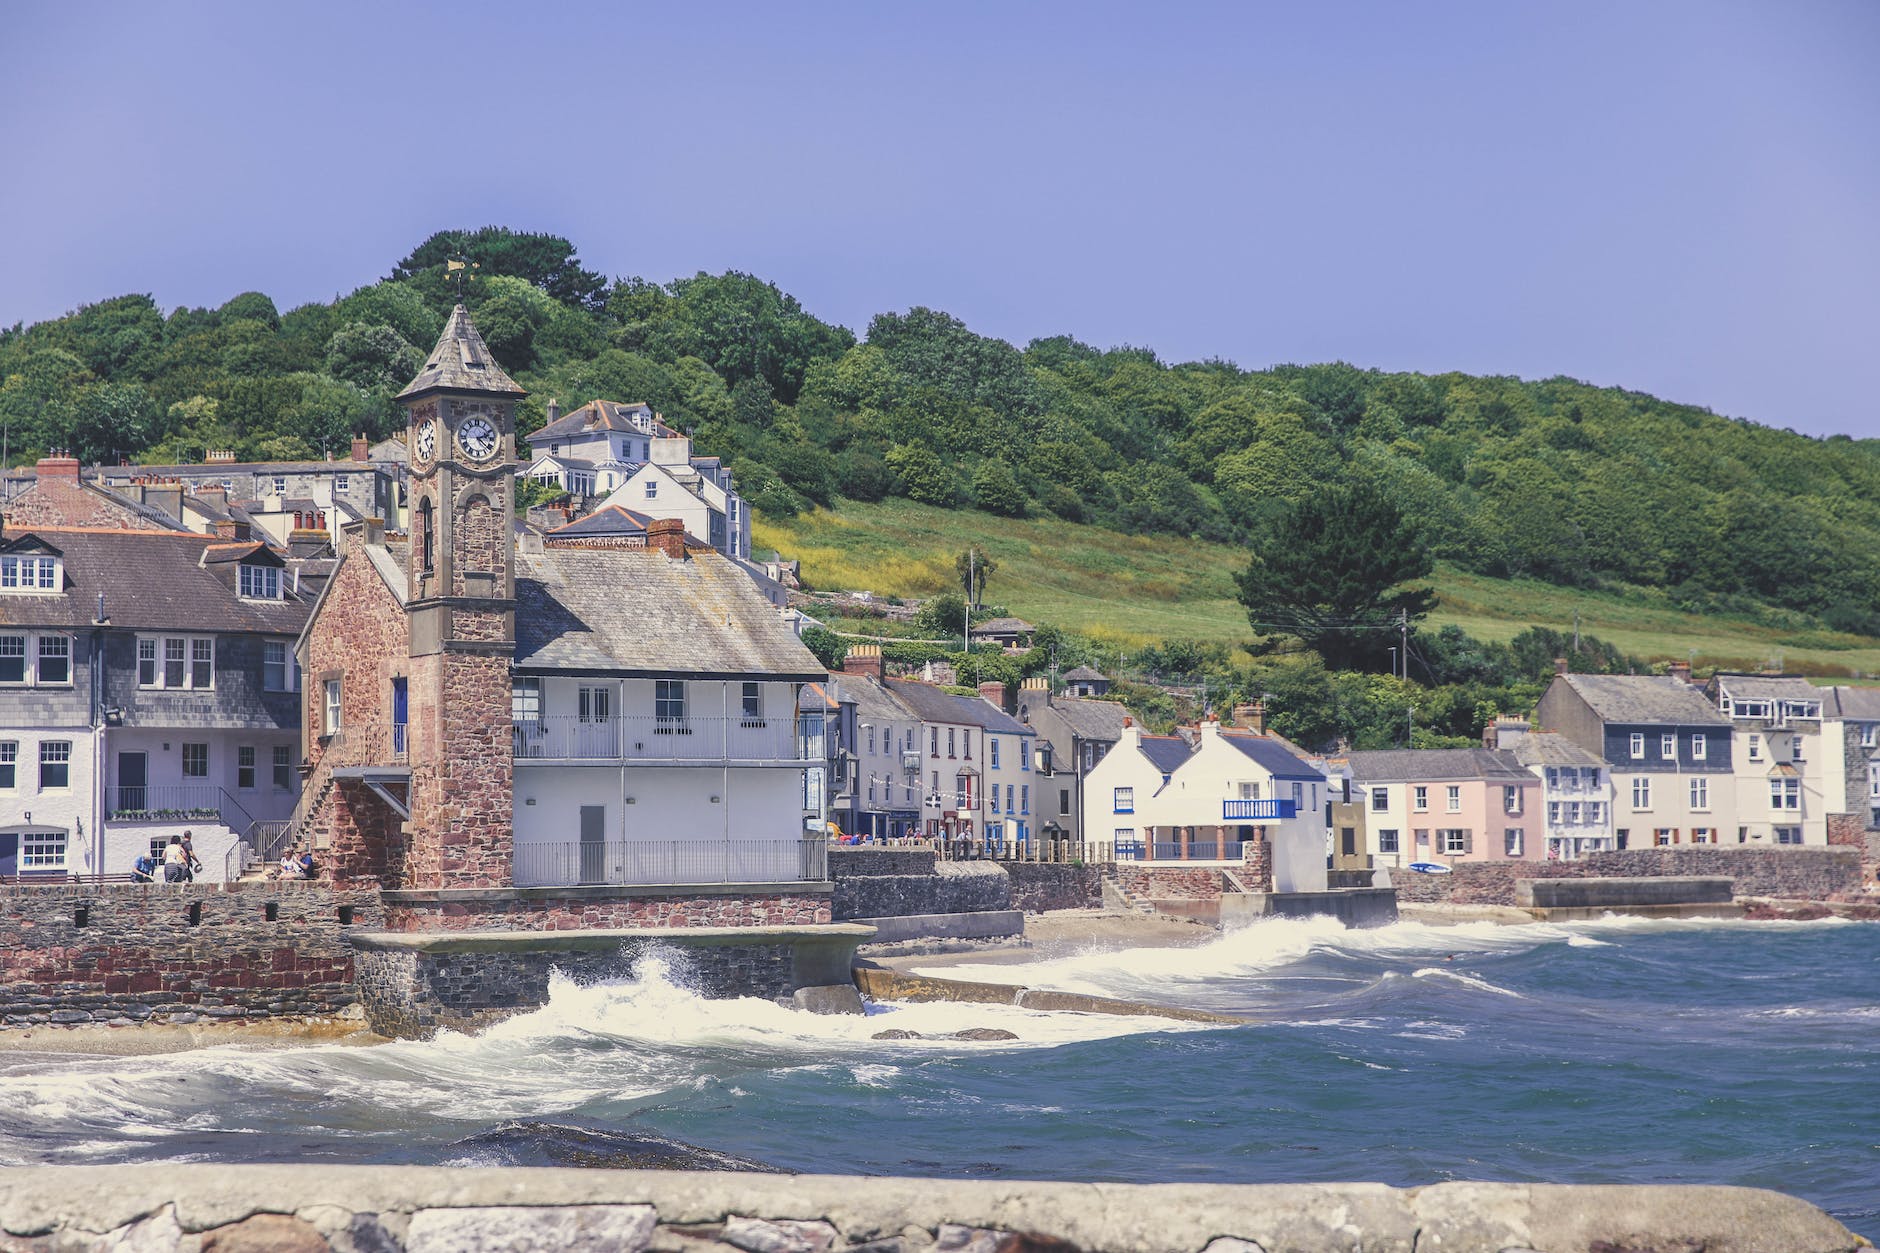
[{"label": "low cream-and-pink house with shared grey roof", "polygon": [[1510,751],[1352,753],[1352,800],[1371,865],[1542,862],[1542,785]]}]

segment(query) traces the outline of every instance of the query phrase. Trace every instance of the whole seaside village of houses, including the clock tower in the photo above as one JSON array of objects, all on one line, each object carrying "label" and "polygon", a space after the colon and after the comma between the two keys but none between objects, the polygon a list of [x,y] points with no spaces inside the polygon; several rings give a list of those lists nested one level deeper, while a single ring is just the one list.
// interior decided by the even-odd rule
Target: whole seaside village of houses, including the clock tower
[{"label": "whole seaside village of houses, including the clock tower", "polygon": [[[1090,668],[959,689],[854,643],[829,670],[720,459],[630,401],[551,403],[523,455],[521,395],[459,307],[406,438],[8,476],[0,875],[124,877],[182,832],[209,880],[310,850],[427,886],[795,882],[822,873],[807,847],[914,839],[1258,862],[1282,892],[1624,849],[1872,862],[1872,689],[1562,662],[1480,747],[1344,751],[1261,704],[1149,734]],[[530,484],[555,504],[517,508]]]}]

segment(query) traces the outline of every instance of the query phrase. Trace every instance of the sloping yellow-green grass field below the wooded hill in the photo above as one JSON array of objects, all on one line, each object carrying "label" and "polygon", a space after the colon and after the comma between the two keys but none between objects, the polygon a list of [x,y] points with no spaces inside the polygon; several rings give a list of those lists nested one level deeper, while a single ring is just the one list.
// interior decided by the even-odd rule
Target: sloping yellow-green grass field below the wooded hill
[{"label": "sloping yellow-green grass field below the wooded hill", "polygon": [[[912,500],[844,502],[782,523],[758,519],[760,549],[803,563],[820,591],[869,589],[927,596],[957,587],[953,557],[966,544],[998,570],[987,600],[1013,613],[1124,643],[1149,640],[1248,640],[1233,576],[1246,564],[1222,544],[1126,536],[1051,517],[1008,519],[940,510]],[[1431,615],[1481,640],[1508,640],[1525,626],[1579,628],[1645,660],[1696,655],[1700,668],[1756,668],[1780,658],[1820,675],[1880,674],[1880,640],[1684,613],[1651,595],[1587,593],[1528,579],[1491,579],[1442,566],[1442,598]]]}]

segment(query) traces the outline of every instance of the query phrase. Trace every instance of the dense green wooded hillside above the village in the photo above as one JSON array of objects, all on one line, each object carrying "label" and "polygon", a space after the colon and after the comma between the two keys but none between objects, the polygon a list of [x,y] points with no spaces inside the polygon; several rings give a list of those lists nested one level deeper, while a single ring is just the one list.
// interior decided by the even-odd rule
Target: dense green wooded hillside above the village
[{"label": "dense green wooded hillside above the village", "polygon": [[0,331],[13,461],[340,453],[399,423],[453,292],[530,389],[649,401],[731,461],[760,515],[906,499],[1132,536],[1237,544],[1340,478],[1382,487],[1446,568],[1649,587],[1677,611],[1880,634],[1880,450],[1568,378],[1384,374],[1344,363],[1164,363],[1064,335],[1023,350],[944,312],[857,337],[750,275],[609,280],[570,241],[444,231],[333,303],[220,309],[124,295]]}]

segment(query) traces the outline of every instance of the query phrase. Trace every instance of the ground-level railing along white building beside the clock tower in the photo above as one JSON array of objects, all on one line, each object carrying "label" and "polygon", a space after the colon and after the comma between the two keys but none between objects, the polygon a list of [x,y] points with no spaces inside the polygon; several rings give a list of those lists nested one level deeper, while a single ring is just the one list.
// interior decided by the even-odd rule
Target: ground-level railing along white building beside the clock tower
[{"label": "ground-level railing along white building beside the clock tower", "polygon": [[822,882],[825,839],[607,839],[515,845],[517,888]]}]

